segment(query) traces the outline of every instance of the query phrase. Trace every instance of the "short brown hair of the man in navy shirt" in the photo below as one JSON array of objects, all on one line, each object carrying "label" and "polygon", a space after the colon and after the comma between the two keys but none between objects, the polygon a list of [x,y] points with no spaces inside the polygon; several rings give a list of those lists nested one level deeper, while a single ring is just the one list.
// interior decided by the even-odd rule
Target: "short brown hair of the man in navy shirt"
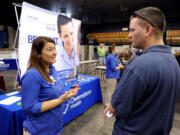
[{"label": "short brown hair of the man in navy shirt", "polygon": [[166,20],[163,12],[155,7],[142,8],[131,15],[131,18],[140,18],[146,23],[149,23],[152,27],[159,30],[161,33],[164,32],[166,27]]}]

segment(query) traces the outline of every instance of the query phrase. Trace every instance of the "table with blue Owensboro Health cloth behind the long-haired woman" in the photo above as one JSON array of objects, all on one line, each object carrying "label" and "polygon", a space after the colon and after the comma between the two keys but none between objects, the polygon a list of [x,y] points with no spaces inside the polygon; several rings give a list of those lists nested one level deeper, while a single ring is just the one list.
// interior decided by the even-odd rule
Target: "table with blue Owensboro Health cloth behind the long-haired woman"
[{"label": "table with blue Owensboro Health cloth behind the long-haired woman", "polygon": [[[100,80],[94,76],[78,76],[80,88],[75,97],[69,99],[64,103],[64,124],[67,124],[96,102],[102,102],[102,94],[100,87]],[[65,90],[69,89],[69,85],[65,85]],[[21,97],[20,93],[11,96]],[[0,96],[0,101],[7,99],[7,94]],[[22,135],[23,134],[23,120],[26,119],[22,111],[22,107],[18,105],[20,101],[11,105],[0,104],[0,134],[2,135]]]}]

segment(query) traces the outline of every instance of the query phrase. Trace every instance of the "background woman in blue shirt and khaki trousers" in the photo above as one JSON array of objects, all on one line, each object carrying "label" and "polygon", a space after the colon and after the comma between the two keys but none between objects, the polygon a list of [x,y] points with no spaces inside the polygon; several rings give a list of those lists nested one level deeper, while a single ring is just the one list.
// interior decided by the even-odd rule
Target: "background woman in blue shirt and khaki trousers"
[{"label": "background woman in blue shirt and khaki trousers", "polygon": [[120,76],[120,69],[123,68],[122,65],[118,64],[118,60],[115,57],[115,54],[118,53],[118,49],[115,45],[109,46],[107,53],[105,106],[107,106],[111,100],[112,93],[114,92],[117,84],[117,79],[119,79]]}]

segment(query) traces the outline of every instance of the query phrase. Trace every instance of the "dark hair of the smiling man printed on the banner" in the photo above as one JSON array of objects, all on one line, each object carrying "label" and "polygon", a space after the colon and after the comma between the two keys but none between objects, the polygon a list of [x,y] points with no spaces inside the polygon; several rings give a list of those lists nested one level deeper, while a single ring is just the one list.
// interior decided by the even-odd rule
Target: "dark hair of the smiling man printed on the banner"
[{"label": "dark hair of the smiling man printed on the banner", "polygon": [[69,22],[72,22],[72,18],[59,14],[57,18],[58,33],[61,33],[61,25],[65,25]]}]

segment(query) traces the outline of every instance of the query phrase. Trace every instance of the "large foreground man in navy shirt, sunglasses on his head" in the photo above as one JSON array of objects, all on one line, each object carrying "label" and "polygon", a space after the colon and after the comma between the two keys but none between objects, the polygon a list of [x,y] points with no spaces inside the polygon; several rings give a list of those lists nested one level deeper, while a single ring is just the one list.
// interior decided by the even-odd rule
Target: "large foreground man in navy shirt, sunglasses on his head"
[{"label": "large foreground man in navy shirt, sunglasses on his head", "polygon": [[112,95],[104,115],[116,116],[113,135],[169,135],[180,92],[180,69],[164,45],[164,14],[147,7],[130,18],[132,46],[143,49],[131,61]]}]

